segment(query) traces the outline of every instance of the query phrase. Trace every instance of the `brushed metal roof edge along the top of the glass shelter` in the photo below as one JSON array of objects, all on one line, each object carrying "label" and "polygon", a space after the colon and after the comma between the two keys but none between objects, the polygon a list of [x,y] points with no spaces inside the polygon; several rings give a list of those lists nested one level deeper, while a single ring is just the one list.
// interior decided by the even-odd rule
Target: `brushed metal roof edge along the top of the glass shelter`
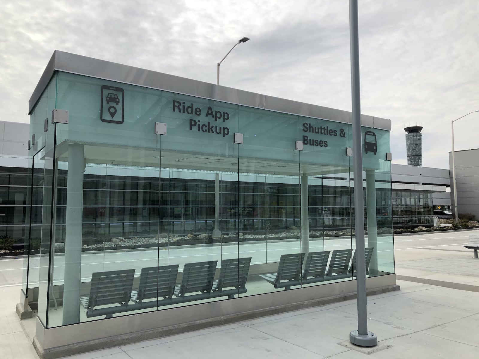
[{"label": "brushed metal roof edge along the top of the glass shelter", "polygon": [[[232,89],[212,83],[187,79],[139,67],[117,64],[92,57],[55,50],[29,101],[29,113],[42,95],[55,70],[107,79],[158,90],[166,90],[212,100],[291,113],[300,116],[352,123],[351,112],[309,103],[286,100],[245,90]],[[367,127],[391,130],[391,120],[361,115]]]}]

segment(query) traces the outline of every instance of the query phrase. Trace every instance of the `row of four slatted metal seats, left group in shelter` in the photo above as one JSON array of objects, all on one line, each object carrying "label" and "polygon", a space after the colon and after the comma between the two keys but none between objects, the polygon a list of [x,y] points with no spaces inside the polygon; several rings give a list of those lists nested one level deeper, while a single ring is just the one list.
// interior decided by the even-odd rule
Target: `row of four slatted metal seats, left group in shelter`
[{"label": "row of four slatted metal seats, left group in shelter", "polygon": [[[115,270],[113,272],[93,273],[92,288],[105,287],[100,291],[108,294],[109,291],[118,292],[123,287],[120,285],[119,278],[114,280],[116,286],[112,286],[108,281],[98,282],[97,277],[109,278],[112,280],[112,274],[124,275],[124,272],[131,272],[129,279],[129,290],[125,290],[125,297],[130,296],[133,304],[127,304],[128,300],[122,301],[121,305],[103,307],[94,309],[87,307],[89,297],[81,298],[87,309],[87,317],[105,315],[106,318],[112,317],[112,314],[124,313],[139,309],[148,309],[164,305],[192,302],[208,298],[217,298],[228,296],[228,299],[234,298],[235,294],[246,293],[246,280],[250,270],[251,257],[239,259],[224,259],[221,262],[221,269],[217,280],[215,278],[217,260],[197,263],[187,263],[183,268],[182,283],[175,286],[178,265],[148,267],[141,269],[140,282],[137,291],[132,291],[133,276],[135,269]],[[95,284],[93,284],[95,282]],[[117,288],[120,287],[120,288]],[[195,293],[186,295],[188,293]],[[90,293],[90,297],[95,292]],[[162,299],[160,299],[162,298]],[[150,300],[148,300],[150,299]],[[153,300],[154,299],[154,300]],[[96,305],[114,304],[110,302],[101,302]]]}]

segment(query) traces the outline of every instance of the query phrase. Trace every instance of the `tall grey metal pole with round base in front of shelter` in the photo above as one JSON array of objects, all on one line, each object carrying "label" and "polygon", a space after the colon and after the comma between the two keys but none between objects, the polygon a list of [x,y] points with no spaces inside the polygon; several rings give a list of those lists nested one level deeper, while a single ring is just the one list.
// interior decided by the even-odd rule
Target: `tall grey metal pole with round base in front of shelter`
[{"label": "tall grey metal pole with round base in front of shelter", "polygon": [[351,47],[351,95],[353,115],[354,231],[356,238],[356,287],[358,330],[349,334],[351,343],[361,347],[377,344],[376,334],[367,331],[366,264],[364,245],[363,149],[361,148],[361,96],[359,86],[358,3],[349,0],[349,39]]}]

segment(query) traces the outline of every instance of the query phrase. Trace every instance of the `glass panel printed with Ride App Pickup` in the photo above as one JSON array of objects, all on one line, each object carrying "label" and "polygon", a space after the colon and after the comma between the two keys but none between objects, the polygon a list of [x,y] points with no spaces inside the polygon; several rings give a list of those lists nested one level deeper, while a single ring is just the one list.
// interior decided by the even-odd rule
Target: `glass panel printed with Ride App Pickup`
[{"label": "glass panel printed with Ride App Pickup", "polygon": [[[238,105],[162,92],[160,265],[176,266],[172,304],[237,297]],[[235,260],[234,262],[232,260]],[[211,281],[212,280],[212,281]],[[241,287],[241,288],[240,288]]]}]

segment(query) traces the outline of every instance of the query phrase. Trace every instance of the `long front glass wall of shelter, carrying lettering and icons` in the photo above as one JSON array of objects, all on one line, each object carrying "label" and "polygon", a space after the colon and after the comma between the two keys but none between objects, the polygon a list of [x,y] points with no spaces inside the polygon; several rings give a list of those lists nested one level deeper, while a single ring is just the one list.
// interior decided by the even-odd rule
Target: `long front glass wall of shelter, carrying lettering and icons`
[{"label": "long front glass wall of shelter, carrying lettering and icons", "polygon": [[[47,327],[354,278],[349,124],[57,77],[69,123],[48,130],[39,158]],[[366,247],[380,275],[394,270],[392,235],[372,236],[391,226],[390,165],[378,159],[389,143],[372,131]]]}]

